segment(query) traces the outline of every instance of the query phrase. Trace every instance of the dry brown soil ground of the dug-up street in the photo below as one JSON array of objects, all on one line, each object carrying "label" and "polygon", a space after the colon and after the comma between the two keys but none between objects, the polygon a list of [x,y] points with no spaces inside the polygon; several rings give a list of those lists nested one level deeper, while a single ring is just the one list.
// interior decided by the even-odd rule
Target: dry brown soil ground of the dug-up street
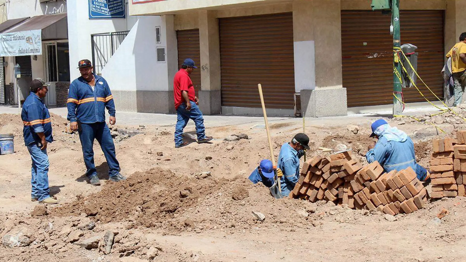
[{"label": "dry brown soil ground of the dug-up street", "polygon": [[[318,147],[344,144],[364,161],[367,145],[372,143],[368,136],[373,119],[312,121],[306,127],[312,140],[308,157],[321,153]],[[193,143],[182,149],[173,147],[173,127],[117,125],[112,130],[117,159],[128,180],[107,181],[107,165],[96,144],[95,161],[103,185],[91,186],[84,176],[77,134],[62,132],[66,119],[54,115],[52,121],[56,141],[48,146],[49,184],[60,205],[48,206],[47,215],[37,216],[45,210],[31,214],[37,202],[30,201],[31,160],[22,142],[21,119],[0,115],[0,133],[15,135],[15,153],[0,156],[0,238],[21,246],[1,246],[0,261],[441,262],[466,258],[465,198],[432,201],[418,212],[397,215],[396,221],[385,220],[381,213],[325,202],[273,199],[264,186],[247,180],[268,155],[263,125],[208,128],[208,135],[215,137],[211,144]],[[390,120],[411,135],[418,161],[426,167],[430,141],[464,128],[456,120],[450,122],[438,124],[445,134],[437,135],[431,125]],[[283,143],[301,131],[293,123],[271,125],[275,156]],[[356,134],[348,124],[359,126]],[[188,126],[186,139],[193,141],[193,130]],[[246,134],[249,139],[224,141],[233,134]],[[449,214],[436,220],[443,208]],[[255,220],[253,211],[263,213],[265,220]],[[105,254],[103,241],[97,243],[104,234],[115,235],[110,254]]]}]

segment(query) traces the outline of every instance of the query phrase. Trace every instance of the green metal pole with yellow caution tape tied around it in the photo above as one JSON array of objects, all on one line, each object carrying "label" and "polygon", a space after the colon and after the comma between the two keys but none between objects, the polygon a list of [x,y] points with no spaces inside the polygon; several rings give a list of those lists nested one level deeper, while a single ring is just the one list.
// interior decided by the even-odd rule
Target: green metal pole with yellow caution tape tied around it
[{"label": "green metal pole with yellow caution tape tied around it", "polygon": [[[400,37],[400,0],[392,0],[392,19],[393,19],[393,49],[401,47]],[[394,68],[399,72],[401,76],[401,61],[399,59],[393,60]],[[401,98],[401,82],[398,78],[397,73],[393,72],[393,115],[399,115],[403,111],[403,104]]]}]

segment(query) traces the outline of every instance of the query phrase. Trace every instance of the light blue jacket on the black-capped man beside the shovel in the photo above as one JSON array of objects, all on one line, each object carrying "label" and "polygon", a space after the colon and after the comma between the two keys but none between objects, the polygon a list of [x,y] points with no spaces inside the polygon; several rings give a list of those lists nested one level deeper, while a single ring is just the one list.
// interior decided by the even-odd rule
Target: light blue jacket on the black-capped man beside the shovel
[{"label": "light blue jacket on the black-capped man beside the shovel", "polygon": [[280,153],[278,154],[278,168],[283,172],[283,176],[280,179],[282,196],[288,196],[293,188],[295,188],[299,179],[299,159],[303,155],[304,152],[302,150],[297,152],[288,143],[281,146]]}]

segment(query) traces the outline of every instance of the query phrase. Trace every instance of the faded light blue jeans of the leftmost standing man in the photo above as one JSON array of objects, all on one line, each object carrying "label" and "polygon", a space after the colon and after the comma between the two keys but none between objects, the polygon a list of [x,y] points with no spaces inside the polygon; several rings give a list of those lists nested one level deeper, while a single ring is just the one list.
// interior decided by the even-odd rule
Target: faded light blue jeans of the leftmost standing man
[{"label": "faded light blue jeans of the leftmost standing man", "polygon": [[50,197],[48,189],[48,162],[47,150],[41,150],[36,143],[28,145],[27,151],[31,155],[31,198],[42,201]]}]

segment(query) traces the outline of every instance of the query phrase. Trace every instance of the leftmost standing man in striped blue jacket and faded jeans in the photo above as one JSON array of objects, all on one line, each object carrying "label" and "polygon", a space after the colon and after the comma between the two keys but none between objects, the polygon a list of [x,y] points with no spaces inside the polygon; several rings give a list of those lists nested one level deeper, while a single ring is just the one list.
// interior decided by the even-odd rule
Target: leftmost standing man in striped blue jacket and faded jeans
[{"label": "leftmost standing man in striped blue jacket and faded jeans", "polygon": [[41,78],[30,84],[30,94],[24,101],[21,111],[23,120],[23,138],[27,151],[31,155],[31,200],[44,204],[56,204],[58,200],[50,197],[48,189],[48,155],[47,143],[52,143],[52,123],[50,114],[42,101],[47,95],[49,83]]}]

